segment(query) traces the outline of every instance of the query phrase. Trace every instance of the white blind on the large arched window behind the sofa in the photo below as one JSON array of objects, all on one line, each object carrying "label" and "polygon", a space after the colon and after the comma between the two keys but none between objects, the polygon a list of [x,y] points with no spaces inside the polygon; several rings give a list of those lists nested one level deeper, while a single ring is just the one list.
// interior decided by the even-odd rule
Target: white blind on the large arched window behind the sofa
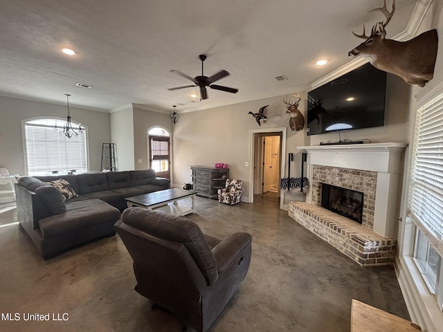
[{"label": "white blind on the large arched window behind the sofa", "polygon": [[87,171],[86,129],[67,138],[55,132],[52,125],[26,122],[25,134],[29,175],[69,169]]}]

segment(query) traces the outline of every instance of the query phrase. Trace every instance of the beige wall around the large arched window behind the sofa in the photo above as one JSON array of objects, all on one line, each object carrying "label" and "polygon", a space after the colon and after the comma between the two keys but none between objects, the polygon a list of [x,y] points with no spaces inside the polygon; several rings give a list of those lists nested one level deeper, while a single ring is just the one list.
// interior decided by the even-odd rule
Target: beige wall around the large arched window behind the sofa
[{"label": "beige wall around the large arched window behind the sofa", "polygon": [[[69,107],[72,120],[88,128],[89,169],[101,165],[102,142],[110,139],[109,113]],[[57,117],[66,120],[66,105],[48,104],[0,96],[0,167],[10,174],[25,173],[25,157],[21,120],[37,117]]]}]

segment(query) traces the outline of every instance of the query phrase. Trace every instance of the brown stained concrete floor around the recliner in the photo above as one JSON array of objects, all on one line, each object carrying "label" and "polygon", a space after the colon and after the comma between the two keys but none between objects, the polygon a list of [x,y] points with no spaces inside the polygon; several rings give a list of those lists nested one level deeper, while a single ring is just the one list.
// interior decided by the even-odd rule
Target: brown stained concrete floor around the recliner
[{"label": "brown stained concrete floor around the recliner", "polygon": [[[359,266],[278,207],[272,193],[234,206],[197,197],[197,214],[188,217],[204,232],[253,236],[248,275],[210,331],[350,331],[353,298],[408,319],[392,266]],[[0,207],[0,225],[14,221],[15,209]],[[14,224],[0,226],[0,246],[0,331],[181,331],[179,320],[152,311],[134,291],[132,259],[118,236],[44,261]],[[24,320],[35,313],[60,320]]]}]

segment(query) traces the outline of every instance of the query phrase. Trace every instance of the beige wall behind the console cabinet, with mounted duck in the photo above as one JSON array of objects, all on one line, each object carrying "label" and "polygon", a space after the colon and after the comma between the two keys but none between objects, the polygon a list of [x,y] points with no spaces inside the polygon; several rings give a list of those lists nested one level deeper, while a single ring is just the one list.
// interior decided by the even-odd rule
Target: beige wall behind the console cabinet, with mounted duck
[{"label": "beige wall behind the console cabinet, with mounted duck", "polygon": [[[228,163],[230,177],[244,181],[244,199],[248,199],[248,174],[253,167],[250,156],[250,130],[287,127],[286,154],[299,154],[296,146],[305,145],[305,130],[291,131],[289,114],[283,99],[287,97],[265,98],[251,102],[216,107],[203,111],[182,113],[174,127],[174,185],[183,185],[192,181],[190,165],[214,166],[215,163]],[[292,98],[295,100],[295,98]],[[265,114],[266,122],[260,127],[249,111],[257,113],[260,107],[269,104]],[[299,109],[305,109],[305,100]],[[305,111],[302,111],[305,113]],[[245,166],[244,163],[249,163]],[[294,161],[293,174],[300,172],[300,163]],[[285,165],[287,167],[287,165]],[[285,168],[284,174],[287,174]],[[295,175],[293,175],[295,176]],[[304,195],[288,194],[288,200],[304,200]],[[286,200],[286,199],[285,199]]]}]

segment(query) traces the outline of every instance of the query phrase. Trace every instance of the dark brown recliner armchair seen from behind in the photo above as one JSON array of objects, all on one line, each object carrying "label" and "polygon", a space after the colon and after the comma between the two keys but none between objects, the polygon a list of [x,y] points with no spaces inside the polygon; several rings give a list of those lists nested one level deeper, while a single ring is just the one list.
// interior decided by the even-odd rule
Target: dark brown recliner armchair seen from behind
[{"label": "dark brown recliner armchair seen from behind", "polygon": [[135,290],[206,331],[246,277],[251,234],[217,239],[181,216],[128,208],[114,226],[134,260]]}]

